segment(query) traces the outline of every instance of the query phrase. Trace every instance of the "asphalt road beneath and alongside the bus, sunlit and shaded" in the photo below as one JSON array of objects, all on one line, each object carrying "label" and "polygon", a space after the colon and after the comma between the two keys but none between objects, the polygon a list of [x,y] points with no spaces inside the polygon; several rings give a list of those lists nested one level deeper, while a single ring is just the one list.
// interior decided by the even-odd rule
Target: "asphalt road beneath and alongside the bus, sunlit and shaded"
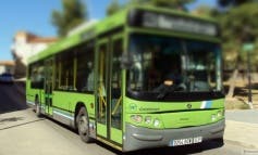
[{"label": "asphalt road beneath and alongside the bus, sunlit and shaded", "polygon": [[[49,118],[38,118],[24,109],[25,99],[21,87],[0,85],[0,155],[120,155],[100,142],[86,144],[70,128]],[[243,155],[244,148],[231,142],[221,146],[206,142],[192,146],[142,150],[128,155]]]}]

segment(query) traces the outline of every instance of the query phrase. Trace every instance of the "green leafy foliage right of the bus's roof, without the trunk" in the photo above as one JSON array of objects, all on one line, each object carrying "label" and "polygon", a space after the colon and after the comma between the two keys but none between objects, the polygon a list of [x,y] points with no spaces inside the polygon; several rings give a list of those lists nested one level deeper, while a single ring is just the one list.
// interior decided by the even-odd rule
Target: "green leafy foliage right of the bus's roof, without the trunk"
[{"label": "green leafy foliage right of the bus's roof, without the trunk", "polygon": [[[207,5],[198,7],[193,13],[204,16],[211,16],[217,18],[221,27],[223,59],[225,69],[246,68],[246,53],[243,52],[244,38],[246,36],[246,27],[249,27],[247,36],[258,38],[258,2],[246,0],[218,0],[223,2],[222,7],[228,7],[226,10],[218,10]],[[258,40],[254,40],[256,47]],[[253,69],[258,66],[257,49],[251,53]]]}]

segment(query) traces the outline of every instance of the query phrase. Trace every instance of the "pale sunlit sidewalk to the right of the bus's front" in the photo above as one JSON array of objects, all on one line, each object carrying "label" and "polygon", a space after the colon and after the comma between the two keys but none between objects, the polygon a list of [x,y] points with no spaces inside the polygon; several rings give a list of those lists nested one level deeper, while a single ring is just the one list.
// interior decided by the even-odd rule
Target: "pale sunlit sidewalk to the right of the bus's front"
[{"label": "pale sunlit sidewalk to the right of the bus's front", "polygon": [[258,111],[226,111],[224,140],[258,150]]}]

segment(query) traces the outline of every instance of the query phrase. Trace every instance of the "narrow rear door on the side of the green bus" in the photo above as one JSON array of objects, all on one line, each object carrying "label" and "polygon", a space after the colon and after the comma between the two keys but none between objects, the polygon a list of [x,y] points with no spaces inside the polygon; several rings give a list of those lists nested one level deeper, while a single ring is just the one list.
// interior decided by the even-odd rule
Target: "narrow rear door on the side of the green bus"
[{"label": "narrow rear door on the side of the green bus", "polygon": [[53,59],[45,62],[45,114],[52,116]]}]

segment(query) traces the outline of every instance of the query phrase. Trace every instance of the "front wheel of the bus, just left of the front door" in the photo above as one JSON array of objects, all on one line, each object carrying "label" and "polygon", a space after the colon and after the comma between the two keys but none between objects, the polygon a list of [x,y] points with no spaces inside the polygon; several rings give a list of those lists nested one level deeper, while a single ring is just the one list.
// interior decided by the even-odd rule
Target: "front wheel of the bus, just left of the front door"
[{"label": "front wheel of the bus, just left of the front door", "polygon": [[79,108],[79,112],[76,116],[76,124],[81,139],[86,143],[91,142],[93,139],[89,137],[88,115],[85,107]]}]

